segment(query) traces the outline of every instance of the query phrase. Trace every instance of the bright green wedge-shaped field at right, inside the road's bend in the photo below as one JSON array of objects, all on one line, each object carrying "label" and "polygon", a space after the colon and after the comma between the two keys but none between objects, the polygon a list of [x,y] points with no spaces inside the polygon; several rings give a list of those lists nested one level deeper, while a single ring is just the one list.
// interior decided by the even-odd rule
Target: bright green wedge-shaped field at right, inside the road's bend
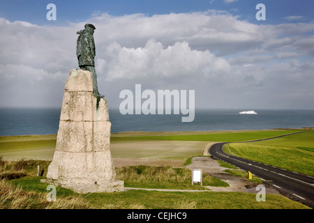
[{"label": "bright green wedge-shaped field at right, inside the road's bend", "polygon": [[226,153],[314,176],[314,131],[251,143],[228,144]]}]

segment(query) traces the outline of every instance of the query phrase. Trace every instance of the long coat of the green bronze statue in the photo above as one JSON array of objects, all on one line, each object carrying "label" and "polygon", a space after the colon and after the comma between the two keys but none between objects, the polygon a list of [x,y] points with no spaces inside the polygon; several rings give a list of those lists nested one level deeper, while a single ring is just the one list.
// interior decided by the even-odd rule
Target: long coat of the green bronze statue
[{"label": "long coat of the green bronze statue", "polygon": [[80,36],[77,38],[76,55],[79,66],[95,66],[95,42],[91,33],[80,32]]}]

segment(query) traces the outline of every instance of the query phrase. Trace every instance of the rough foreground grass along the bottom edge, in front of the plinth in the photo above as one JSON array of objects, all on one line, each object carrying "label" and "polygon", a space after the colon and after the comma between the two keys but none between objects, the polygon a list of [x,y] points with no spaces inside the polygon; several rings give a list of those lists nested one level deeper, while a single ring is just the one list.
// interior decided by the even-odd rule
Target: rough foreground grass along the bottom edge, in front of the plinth
[{"label": "rough foreground grass along the bottom edge, in front of the plinth", "polygon": [[[42,161],[43,162],[43,161]],[[14,166],[14,165],[13,165]],[[21,166],[20,166],[21,167]],[[26,171],[28,174],[28,171]],[[47,183],[40,176],[16,176],[0,180],[0,208],[158,208],[158,209],[306,209],[307,206],[282,196],[267,194],[257,202],[255,194],[241,192],[158,192],[128,190],[116,193],[77,194],[57,187],[57,201],[48,202]]]}]

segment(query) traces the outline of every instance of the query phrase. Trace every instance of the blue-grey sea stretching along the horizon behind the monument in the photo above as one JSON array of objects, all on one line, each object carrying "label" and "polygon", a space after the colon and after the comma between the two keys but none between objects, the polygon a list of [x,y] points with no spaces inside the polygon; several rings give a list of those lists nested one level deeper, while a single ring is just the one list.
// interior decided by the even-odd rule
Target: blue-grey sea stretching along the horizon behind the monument
[{"label": "blue-grey sea stretching along the horizon behind the monument", "polygon": [[[239,114],[241,109],[196,109],[195,119],[181,122],[180,115],[121,115],[110,109],[112,132],[264,130],[314,127],[314,110],[255,109],[257,115]],[[57,134],[60,109],[0,109],[0,135]]]}]

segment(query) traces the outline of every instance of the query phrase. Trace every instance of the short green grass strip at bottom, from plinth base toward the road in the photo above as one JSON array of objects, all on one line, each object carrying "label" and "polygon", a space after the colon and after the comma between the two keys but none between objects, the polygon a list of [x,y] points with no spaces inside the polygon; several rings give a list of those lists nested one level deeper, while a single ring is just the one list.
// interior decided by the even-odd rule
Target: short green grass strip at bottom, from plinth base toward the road
[{"label": "short green grass strip at bottom, from plinth base toward the road", "polygon": [[[157,192],[133,190],[117,194],[91,194],[87,200],[94,201],[96,208],[102,208],[104,203],[111,201],[116,206],[130,206],[137,204],[144,208],[172,209],[253,209],[253,208],[306,208],[300,203],[290,201],[278,195],[267,194],[267,202],[257,202],[255,194],[239,192]],[[184,201],[184,202],[182,202]],[[183,207],[182,204],[183,203]]]}]

